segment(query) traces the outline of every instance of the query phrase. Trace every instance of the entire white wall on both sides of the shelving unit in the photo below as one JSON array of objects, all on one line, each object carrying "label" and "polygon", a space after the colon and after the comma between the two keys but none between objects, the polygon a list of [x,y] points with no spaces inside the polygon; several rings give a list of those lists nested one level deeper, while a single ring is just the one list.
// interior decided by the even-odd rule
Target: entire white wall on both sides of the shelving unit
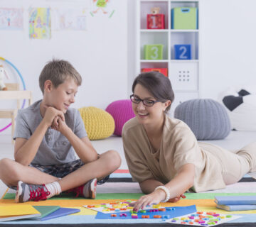
[{"label": "entire white wall on both sides of the shelving unit", "polygon": [[[110,0],[115,9],[111,19],[87,14],[85,32],[53,31],[51,40],[28,39],[28,6],[65,6],[70,1],[0,0],[1,7],[25,10],[23,31],[0,31],[0,56],[18,67],[34,100],[41,97],[38,74],[45,62],[53,56],[70,60],[83,77],[74,106],[105,109],[110,102],[128,97],[136,76],[137,0]],[[76,6],[92,1],[71,2]],[[255,0],[201,0],[202,98],[217,99],[229,86],[256,84],[255,9]]]}]

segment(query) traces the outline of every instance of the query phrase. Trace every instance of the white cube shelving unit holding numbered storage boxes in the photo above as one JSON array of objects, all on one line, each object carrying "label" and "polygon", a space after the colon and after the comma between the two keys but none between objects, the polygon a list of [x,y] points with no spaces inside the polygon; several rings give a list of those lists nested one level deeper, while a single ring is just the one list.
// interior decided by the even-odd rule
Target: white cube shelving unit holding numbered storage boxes
[{"label": "white cube shelving unit holding numbered storage boxes", "polygon": [[[146,29],[146,15],[151,8],[159,7],[165,15],[164,29]],[[139,0],[137,1],[137,74],[142,68],[167,68],[168,76],[174,89],[175,101],[171,115],[178,104],[200,96],[200,43],[199,16],[198,29],[171,29],[171,9],[175,7],[196,7],[200,11],[199,0]],[[163,60],[144,60],[144,45],[164,45]],[[191,60],[175,60],[174,45],[191,44]]]}]

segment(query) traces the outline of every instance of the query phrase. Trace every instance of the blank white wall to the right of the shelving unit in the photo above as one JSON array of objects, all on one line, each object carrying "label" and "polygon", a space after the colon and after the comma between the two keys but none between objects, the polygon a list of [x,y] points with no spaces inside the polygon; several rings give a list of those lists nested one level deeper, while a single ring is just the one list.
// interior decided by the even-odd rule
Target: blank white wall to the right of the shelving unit
[{"label": "blank white wall to the right of the shelving unit", "polygon": [[256,87],[256,1],[201,0],[201,96]]}]

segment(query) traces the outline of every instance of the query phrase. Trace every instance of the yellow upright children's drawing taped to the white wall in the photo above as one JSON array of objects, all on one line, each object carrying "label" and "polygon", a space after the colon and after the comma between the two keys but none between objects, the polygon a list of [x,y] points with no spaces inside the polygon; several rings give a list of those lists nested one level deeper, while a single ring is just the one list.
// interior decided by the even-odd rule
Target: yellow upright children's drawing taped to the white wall
[{"label": "yellow upright children's drawing taped to the white wall", "polygon": [[29,38],[50,39],[50,8],[30,8],[29,15]]}]

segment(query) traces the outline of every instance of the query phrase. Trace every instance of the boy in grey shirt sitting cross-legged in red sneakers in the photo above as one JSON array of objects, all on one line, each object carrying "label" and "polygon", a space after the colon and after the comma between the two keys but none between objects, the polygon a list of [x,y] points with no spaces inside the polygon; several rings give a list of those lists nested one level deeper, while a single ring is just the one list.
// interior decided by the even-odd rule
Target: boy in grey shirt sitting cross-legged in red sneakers
[{"label": "boy in grey shirt sitting cross-legged in red sneakers", "polygon": [[[69,62],[48,62],[39,77],[43,100],[18,111],[15,161],[0,160],[0,179],[16,189],[16,202],[48,199],[67,190],[95,199],[97,179],[119,167],[116,151],[97,155],[79,111],[69,107],[81,83]],[[75,153],[80,159],[75,160]]]}]

